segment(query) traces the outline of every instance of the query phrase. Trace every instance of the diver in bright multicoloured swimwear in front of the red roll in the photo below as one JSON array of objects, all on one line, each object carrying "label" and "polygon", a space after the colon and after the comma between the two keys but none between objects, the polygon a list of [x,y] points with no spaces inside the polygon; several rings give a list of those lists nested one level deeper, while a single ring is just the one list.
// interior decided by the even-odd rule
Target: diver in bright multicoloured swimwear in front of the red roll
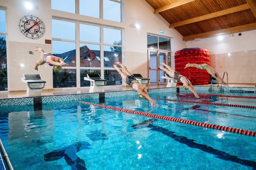
[{"label": "diver in bright multicoloured swimwear in front of the red roll", "polygon": [[203,63],[203,64],[188,63],[186,64],[185,68],[188,68],[188,67],[194,67],[201,70],[206,70],[212,77],[218,80],[221,84],[223,84],[224,86],[228,86],[228,84],[220,77],[219,73],[206,63]]}]

